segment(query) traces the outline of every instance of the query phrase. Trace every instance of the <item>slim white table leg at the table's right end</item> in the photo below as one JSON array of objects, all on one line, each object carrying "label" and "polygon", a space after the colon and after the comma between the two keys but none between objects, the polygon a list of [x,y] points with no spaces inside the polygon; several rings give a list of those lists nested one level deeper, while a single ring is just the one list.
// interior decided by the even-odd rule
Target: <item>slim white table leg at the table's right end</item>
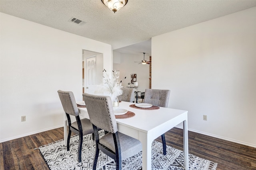
[{"label": "slim white table leg at the table's right end", "polygon": [[183,121],[184,168],[188,170],[188,122]]}]

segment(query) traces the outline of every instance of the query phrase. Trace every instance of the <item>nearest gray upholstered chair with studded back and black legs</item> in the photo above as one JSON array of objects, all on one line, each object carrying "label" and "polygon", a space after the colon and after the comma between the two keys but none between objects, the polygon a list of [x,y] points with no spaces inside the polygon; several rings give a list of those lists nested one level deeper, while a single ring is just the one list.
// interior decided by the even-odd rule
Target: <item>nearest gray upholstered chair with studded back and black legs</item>
[{"label": "nearest gray upholstered chair with studded back and black legs", "polygon": [[[96,140],[93,170],[96,170],[100,150],[116,161],[116,170],[121,170],[122,160],[138,154],[142,150],[140,141],[118,132],[116,117],[109,96],[84,93],[83,97]],[[108,133],[99,139],[97,127],[108,131]]]}]

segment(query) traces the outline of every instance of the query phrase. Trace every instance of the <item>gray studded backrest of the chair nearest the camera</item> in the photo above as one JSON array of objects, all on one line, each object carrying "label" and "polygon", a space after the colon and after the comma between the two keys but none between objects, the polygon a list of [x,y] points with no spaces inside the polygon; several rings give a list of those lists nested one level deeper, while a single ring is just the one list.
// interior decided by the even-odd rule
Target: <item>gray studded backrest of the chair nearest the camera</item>
[{"label": "gray studded backrest of the chair nearest the camera", "polygon": [[83,98],[91,123],[100,129],[116,133],[116,117],[110,96],[97,96],[84,93]]}]

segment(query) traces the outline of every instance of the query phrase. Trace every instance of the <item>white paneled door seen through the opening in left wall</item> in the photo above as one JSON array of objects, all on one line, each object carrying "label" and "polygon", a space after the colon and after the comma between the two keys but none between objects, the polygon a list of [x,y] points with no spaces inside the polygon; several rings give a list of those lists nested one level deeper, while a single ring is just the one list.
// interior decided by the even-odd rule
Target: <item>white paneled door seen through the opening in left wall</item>
[{"label": "white paneled door seen through the opening in left wall", "polygon": [[85,92],[94,94],[97,80],[96,55],[86,57],[86,89]]}]

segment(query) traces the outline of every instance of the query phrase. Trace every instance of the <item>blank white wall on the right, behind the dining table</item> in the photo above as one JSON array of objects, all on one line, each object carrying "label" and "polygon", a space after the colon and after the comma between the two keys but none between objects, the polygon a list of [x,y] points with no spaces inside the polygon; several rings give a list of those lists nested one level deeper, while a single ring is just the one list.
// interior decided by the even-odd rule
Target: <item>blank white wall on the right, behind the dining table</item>
[{"label": "blank white wall on the right, behind the dining table", "polygon": [[152,63],[190,130],[256,147],[255,7],[153,37]]}]

